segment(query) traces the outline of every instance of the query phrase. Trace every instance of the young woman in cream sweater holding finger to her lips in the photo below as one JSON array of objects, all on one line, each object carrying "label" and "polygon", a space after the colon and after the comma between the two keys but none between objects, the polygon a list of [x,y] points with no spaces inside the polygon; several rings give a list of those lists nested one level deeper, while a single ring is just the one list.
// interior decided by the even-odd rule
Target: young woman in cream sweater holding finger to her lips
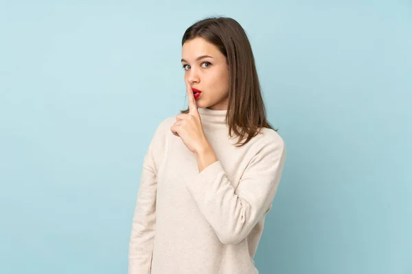
[{"label": "young woman in cream sweater holding finger to her lips", "polygon": [[206,18],[183,35],[181,62],[189,108],[160,123],[145,155],[128,273],[258,273],[286,148],[251,45],[232,18]]}]

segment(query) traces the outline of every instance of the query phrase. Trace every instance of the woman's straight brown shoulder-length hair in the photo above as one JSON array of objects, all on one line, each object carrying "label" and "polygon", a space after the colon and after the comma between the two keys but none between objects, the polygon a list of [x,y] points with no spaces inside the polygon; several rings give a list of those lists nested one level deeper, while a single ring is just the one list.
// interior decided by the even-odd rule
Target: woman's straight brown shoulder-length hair
[{"label": "woman's straight brown shoulder-length hair", "polygon": [[[229,104],[226,123],[229,125],[229,135],[235,132],[239,136],[240,146],[260,133],[262,127],[273,129],[266,119],[266,110],[260,89],[255,58],[249,39],[242,26],[228,17],[209,17],[197,21],[188,27],[183,34],[182,47],[187,40],[204,38],[218,47],[225,55],[229,68]],[[189,108],[181,110],[189,113]],[[273,129],[277,131],[277,129]]]}]

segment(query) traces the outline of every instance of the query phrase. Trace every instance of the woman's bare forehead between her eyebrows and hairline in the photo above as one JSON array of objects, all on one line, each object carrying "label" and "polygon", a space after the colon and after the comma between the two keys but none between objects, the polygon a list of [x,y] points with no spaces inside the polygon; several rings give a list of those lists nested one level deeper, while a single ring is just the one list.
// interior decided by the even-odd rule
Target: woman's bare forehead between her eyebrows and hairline
[{"label": "woman's bare forehead between her eyebrows and hairline", "polygon": [[[194,60],[201,55],[211,55],[213,58],[221,58],[218,47],[211,42],[207,42],[204,38],[197,37],[192,40],[187,40],[182,47],[182,58],[185,60]],[[224,56],[223,56],[224,57]]]}]

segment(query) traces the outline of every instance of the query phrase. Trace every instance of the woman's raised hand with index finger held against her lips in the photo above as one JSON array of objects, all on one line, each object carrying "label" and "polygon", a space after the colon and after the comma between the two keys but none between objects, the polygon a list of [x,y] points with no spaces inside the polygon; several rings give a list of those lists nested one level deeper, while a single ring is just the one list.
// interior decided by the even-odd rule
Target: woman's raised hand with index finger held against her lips
[{"label": "woman's raised hand with index finger held against her lips", "polygon": [[208,147],[209,142],[203,131],[201,116],[198,113],[194,99],[192,86],[186,82],[187,101],[189,102],[189,113],[176,115],[176,122],[170,127],[175,136],[182,139],[183,143],[192,151],[197,153]]}]

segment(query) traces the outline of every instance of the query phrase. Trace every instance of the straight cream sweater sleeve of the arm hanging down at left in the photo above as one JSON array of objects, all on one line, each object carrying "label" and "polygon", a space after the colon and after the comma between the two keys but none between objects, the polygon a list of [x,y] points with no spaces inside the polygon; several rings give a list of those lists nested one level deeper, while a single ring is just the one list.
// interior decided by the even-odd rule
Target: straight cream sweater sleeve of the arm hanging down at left
[{"label": "straight cream sweater sleeve of the arm hanging down at left", "polygon": [[161,138],[161,127],[159,126],[144,156],[130,233],[129,274],[150,274],[156,227],[157,168],[155,153],[160,149]]}]

